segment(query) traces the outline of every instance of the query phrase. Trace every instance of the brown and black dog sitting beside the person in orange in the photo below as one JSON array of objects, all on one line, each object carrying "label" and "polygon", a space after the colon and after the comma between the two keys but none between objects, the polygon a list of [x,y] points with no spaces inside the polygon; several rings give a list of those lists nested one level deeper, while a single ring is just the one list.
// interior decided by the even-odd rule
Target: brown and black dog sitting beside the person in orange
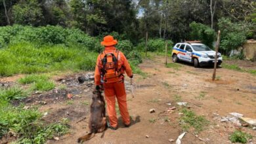
[{"label": "brown and black dog sitting beside the person in orange", "polygon": [[103,132],[101,137],[104,136],[105,130],[108,128],[106,124],[106,108],[105,100],[102,96],[102,91],[93,91],[93,101],[91,103],[91,116],[89,120],[89,134],[79,137],[78,143],[87,141],[95,136],[98,132]]}]

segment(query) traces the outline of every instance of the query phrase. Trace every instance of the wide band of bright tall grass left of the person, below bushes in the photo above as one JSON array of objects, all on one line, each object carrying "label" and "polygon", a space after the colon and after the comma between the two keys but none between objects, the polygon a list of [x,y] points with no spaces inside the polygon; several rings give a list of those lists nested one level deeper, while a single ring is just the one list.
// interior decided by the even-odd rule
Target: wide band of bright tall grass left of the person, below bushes
[{"label": "wide band of bright tall grass left of the person, below bushes", "polygon": [[62,70],[93,70],[96,52],[65,45],[18,43],[0,49],[0,76]]}]

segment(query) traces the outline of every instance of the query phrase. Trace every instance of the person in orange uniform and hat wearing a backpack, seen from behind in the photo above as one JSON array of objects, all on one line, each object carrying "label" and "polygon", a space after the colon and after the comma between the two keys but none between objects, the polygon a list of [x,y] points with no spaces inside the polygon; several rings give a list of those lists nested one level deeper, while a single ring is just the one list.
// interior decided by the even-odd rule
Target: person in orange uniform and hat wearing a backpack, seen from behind
[{"label": "person in orange uniform and hat wearing a backpack, seen from behind", "polygon": [[128,77],[133,78],[129,62],[125,55],[116,49],[116,44],[117,40],[111,35],[104,37],[101,45],[104,45],[105,49],[98,55],[95,67],[96,89],[100,89],[100,86],[103,85],[106,109],[110,120],[108,128],[112,130],[117,129],[116,99],[125,127],[130,126],[123,74],[126,72]]}]

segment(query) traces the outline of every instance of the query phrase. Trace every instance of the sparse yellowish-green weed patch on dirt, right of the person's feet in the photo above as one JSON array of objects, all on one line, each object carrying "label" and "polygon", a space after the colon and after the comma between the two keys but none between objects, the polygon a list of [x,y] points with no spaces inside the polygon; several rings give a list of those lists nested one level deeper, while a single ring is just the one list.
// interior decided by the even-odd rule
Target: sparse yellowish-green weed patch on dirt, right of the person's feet
[{"label": "sparse yellowish-green weed patch on dirt, right of the person's feet", "polygon": [[201,132],[205,126],[209,124],[209,121],[203,116],[197,116],[196,113],[188,109],[182,109],[181,113],[181,126],[184,130],[188,130],[191,126],[195,132]]}]

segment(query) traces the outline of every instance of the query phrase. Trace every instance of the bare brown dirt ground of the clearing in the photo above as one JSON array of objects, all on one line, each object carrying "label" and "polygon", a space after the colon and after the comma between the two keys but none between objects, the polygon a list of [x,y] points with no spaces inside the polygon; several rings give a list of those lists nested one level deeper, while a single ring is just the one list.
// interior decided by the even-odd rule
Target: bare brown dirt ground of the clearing
[{"label": "bare brown dirt ground of the clearing", "polygon": [[[256,77],[219,68],[218,81],[212,82],[211,67],[194,68],[187,63],[180,64],[182,67],[179,69],[166,68],[163,56],[144,60],[139,67],[146,77],[135,75],[135,98],[132,98],[129,79],[125,82],[131,126],[124,128],[118,115],[119,128],[116,131],[108,129],[103,138],[100,138],[101,134],[96,134],[85,143],[175,143],[169,142],[169,139],[176,140],[183,132],[179,125],[179,105],[176,105],[180,101],[188,102],[190,110],[210,121],[209,126],[199,134],[188,130],[182,143],[230,143],[228,136],[236,129],[253,135],[250,142],[256,143],[256,130],[220,121],[221,117],[232,112],[256,118]],[[243,65],[242,62],[238,64]],[[248,68],[256,69],[256,62],[250,63]],[[93,81],[77,82],[77,77],[86,73],[55,77],[57,84],[66,85],[66,90],[33,94],[23,101],[26,105],[41,105],[40,111],[47,112],[43,117],[47,122],[56,122],[61,118],[70,120],[70,132],[58,141],[49,140],[47,143],[76,143],[78,137],[87,134]],[[72,94],[72,99],[67,98],[67,94]],[[168,111],[173,106],[177,109]],[[149,113],[152,108],[156,109],[156,113]]]}]

